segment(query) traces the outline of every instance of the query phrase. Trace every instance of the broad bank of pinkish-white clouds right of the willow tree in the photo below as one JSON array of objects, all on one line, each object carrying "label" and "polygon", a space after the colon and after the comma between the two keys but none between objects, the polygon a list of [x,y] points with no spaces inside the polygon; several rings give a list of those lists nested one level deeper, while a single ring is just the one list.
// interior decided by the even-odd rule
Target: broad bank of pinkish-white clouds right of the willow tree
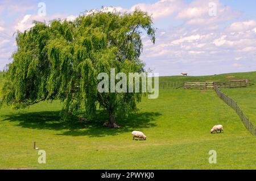
[{"label": "broad bank of pinkish-white clouds right of the willow tree", "polygon": [[[216,16],[209,15],[209,2],[216,4]],[[157,31],[156,44],[144,46],[142,60],[147,66],[155,67],[160,75],[181,71],[203,75],[256,67],[255,20],[238,20],[240,13],[219,1],[197,0],[183,5],[172,19],[182,23]],[[235,62],[238,60],[240,64]],[[164,65],[156,65],[156,61]]]}]

